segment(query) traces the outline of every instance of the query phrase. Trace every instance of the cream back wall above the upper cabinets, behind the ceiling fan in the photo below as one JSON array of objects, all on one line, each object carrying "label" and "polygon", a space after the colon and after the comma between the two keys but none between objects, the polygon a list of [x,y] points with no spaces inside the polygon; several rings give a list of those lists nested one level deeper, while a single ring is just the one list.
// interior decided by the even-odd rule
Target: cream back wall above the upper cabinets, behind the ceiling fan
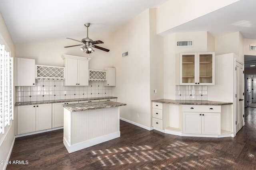
[{"label": "cream back wall above the upper cabinets, behind the ceiling fan", "polygon": [[[81,39],[82,38],[83,37],[81,37]],[[99,37],[90,38],[103,41],[104,44],[99,44],[98,46],[110,49],[110,52],[105,52],[94,48],[94,53],[86,54],[80,50],[80,46],[64,48],[65,46],[77,45],[79,43],[63,37],[62,40],[57,41],[17,44],[16,57],[36,59],[36,64],[39,65],[64,66],[61,56],[63,54],[68,54],[92,58],[89,61],[89,69],[103,70],[104,67],[111,67],[112,44],[109,39],[112,37],[110,37],[110,35],[101,35]]]}]

